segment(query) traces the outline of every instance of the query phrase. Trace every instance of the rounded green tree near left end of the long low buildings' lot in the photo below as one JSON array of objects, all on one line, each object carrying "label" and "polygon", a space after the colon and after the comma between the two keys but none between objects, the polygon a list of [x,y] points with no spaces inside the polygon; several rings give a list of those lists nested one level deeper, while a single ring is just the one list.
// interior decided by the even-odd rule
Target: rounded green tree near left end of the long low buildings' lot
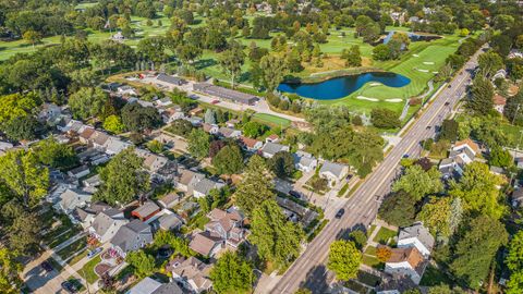
[{"label": "rounded green tree near left end of the long low buildings' lot", "polygon": [[80,88],[69,97],[68,105],[74,118],[87,120],[100,115],[108,99],[101,88]]}]

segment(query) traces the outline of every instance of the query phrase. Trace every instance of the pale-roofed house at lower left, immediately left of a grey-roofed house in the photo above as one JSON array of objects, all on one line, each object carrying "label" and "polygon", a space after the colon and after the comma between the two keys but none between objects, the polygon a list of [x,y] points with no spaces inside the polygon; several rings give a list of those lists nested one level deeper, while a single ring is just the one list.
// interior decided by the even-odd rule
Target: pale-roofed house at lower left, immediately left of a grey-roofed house
[{"label": "pale-roofed house at lower left, immediately left of a grey-roofed house", "polygon": [[100,243],[106,243],[117,234],[118,230],[129,221],[123,217],[123,211],[115,208],[102,210],[96,215],[89,233]]}]

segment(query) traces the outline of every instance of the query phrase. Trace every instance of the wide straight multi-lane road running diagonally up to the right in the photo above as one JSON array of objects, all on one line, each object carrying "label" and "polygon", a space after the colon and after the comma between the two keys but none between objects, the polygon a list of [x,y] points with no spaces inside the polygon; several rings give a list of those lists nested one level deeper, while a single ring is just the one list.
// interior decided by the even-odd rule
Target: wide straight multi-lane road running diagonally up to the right
[{"label": "wide straight multi-lane road running diagonally up to the right", "polygon": [[326,293],[328,287],[328,270],[325,267],[329,244],[357,228],[368,228],[376,218],[381,198],[390,188],[398,175],[398,163],[403,155],[416,157],[419,154],[419,142],[435,135],[435,126],[452,111],[454,105],[466,91],[471,74],[477,66],[481,50],[464,65],[462,73],[450,83],[450,87],[441,90],[419,119],[408,130],[401,142],[393,147],[376,170],[352,195],[345,205],[345,213],[341,219],[333,219],[321,233],[311,242],[305,252],[294,261],[278,284],[268,293],[294,293],[299,287],[307,287],[313,293]]}]

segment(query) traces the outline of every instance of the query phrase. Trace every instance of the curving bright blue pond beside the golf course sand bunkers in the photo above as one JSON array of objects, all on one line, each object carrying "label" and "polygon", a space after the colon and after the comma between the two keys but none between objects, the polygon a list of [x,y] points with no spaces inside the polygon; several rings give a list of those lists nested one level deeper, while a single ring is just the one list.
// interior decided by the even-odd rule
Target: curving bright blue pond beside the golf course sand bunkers
[{"label": "curving bright blue pond beside the golf course sand bunkers", "polygon": [[294,93],[302,97],[316,100],[333,100],[351,95],[366,83],[379,83],[389,87],[403,87],[409,85],[411,79],[401,74],[374,72],[335,77],[315,84],[281,83],[278,86],[278,90]]}]

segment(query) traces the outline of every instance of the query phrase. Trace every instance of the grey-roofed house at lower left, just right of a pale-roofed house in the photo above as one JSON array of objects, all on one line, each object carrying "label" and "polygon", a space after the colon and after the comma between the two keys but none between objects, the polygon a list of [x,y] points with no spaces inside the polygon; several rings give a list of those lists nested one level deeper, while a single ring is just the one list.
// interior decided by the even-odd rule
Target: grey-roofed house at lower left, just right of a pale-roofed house
[{"label": "grey-roofed house at lower left, just right of a pale-roofed house", "polygon": [[127,253],[145,247],[153,242],[150,225],[141,220],[133,220],[120,226],[111,238],[111,248],[121,257]]}]

